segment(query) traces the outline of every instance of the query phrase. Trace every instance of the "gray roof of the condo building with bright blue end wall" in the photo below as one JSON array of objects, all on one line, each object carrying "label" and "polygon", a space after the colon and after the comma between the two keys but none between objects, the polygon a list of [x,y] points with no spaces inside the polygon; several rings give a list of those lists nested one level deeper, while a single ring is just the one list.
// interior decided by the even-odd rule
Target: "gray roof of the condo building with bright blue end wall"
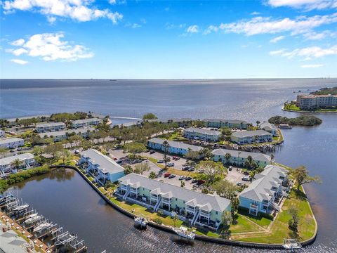
[{"label": "gray roof of the condo building with bright blue end wall", "polygon": [[114,162],[107,155],[103,155],[98,150],[88,149],[81,153],[84,157],[89,157],[93,164],[98,164],[98,168],[104,171],[109,172],[110,174],[118,173],[124,171],[124,168],[121,165]]}]

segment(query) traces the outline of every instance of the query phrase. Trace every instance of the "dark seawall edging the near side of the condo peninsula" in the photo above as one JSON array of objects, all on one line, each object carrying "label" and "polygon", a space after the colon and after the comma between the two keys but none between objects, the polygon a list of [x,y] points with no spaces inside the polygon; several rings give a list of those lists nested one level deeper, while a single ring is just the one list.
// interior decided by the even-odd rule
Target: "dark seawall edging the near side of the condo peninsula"
[{"label": "dark seawall edging the near side of the condo peninsula", "polygon": [[[91,188],[93,188],[93,190],[95,190],[96,193],[98,193],[98,195],[100,195],[100,197],[103,198],[103,200],[105,200],[105,202],[107,202],[107,204],[109,204],[110,206],[112,206],[114,209],[116,209],[117,211],[121,212],[121,214],[125,214],[126,216],[130,217],[131,219],[133,219],[134,217],[136,217],[135,214],[126,211],[125,209],[119,207],[119,205],[115,204],[114,202],[112,202],[107,196],[105,196],[102,191],[100,191],[100,189],[95,186],[87,177],[86,175],[84,175],[79,168],[77,167],[73,167],[73,166],[69,166],[69,165],[52,165],[50,166],[51,169],[58,169],[58,168],[67,168],[67,169],[73,169],[75,171],[77,171],[80,176],[89,184],[89,186],[91,186]],[[304,190],[304,189],[303,189]],[[309,207],[310,207],[310,211],[312,212],[312,208],[310,205],[310,202],[308,201]],[[315,214],[312,212],[312,216],[315,220],[315,233],[314,235],[312,235],[311,238],[309,238],[308,240],[304,240],[300,242],[300,245],[302,245],[303,247],[311,245],[313,242],[315,242],[316,237],[317,237],[317,231],[318,231],[318,224],[317,224],[317,220],[315,218]],[[149,221],[148,222],[149,226],[153,227],[153,228],[157,228],[160,229],[161,231],[166,231],[169,233],[173,233],[171,227],[169,226],[165,226],[165,225],[159,225],[157,223],[154,223],[153,221]],[[206,242],[216,242],[218,244],[223,244],[223,245],[230,245],[230,246],[236,246],[236,247],[250,247],[250,248],[262,248],[262,249],[284,249],[283,244],[268,244],[268,243],[258,243],[258,242],[245,242],[245,241],[240,241],[240,240],[226,240],[226,239],[221,239],[221,238],[213,238],[213,237],[209,237],[206,235],[195,235],[195,238],[197,240],[203,240]]]}]

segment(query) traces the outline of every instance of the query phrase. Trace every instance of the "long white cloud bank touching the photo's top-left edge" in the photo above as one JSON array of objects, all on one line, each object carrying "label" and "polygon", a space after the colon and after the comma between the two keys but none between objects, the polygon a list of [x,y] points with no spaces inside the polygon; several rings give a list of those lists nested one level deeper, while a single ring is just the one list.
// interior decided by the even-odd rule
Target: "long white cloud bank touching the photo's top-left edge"
[{"label": "long white cloud bank touching the photo's top-left edge", "polygon": [[123,18],[118,12],[108,9],[100,10],[91,7],[90,0],[8,0],[2,3],[5,13],[20,11],[39,11],[46,15],[49,21],[55,22],[55,17],[71,18],[86,22],[98,18],[110,19],[113,23]]}]

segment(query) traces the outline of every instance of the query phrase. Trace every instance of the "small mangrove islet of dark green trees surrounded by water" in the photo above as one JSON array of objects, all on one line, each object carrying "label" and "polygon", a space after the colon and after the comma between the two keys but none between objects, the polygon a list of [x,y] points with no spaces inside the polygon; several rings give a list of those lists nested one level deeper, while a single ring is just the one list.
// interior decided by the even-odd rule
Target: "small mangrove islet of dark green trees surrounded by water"
[{"label": "small mangrove islet of dark green trees surrounded by water", "polygon": [[272,124],[289,124],[290,126],[315,126],[322,124],[322,119],[315,116],[299,116],[296,118],[288,118],[282,116],[274,116],[268,119]]}]

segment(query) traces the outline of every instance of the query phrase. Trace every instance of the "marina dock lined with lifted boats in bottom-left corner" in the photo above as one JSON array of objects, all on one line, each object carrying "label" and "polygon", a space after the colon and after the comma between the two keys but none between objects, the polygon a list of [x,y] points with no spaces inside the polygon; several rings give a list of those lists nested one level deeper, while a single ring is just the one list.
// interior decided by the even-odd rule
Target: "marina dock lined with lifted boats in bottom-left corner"
[{"label": "marina dock lined with lifted boats in bottom-left corner", "polygon": [[[36,210],[29,209],[27,203],[23,204],[22,200],[20,203],[18,197],[14,197],[13,194],[8,193],[0,197],[0,203],[0,228],[2,227],[4,233],[13,230],[23,238],[27,242],[25,243],[27,252],[87,251],[84,240],[63,231],[62,227],[38,214]],[[13,232],[11,235],[14,236]]]}]

